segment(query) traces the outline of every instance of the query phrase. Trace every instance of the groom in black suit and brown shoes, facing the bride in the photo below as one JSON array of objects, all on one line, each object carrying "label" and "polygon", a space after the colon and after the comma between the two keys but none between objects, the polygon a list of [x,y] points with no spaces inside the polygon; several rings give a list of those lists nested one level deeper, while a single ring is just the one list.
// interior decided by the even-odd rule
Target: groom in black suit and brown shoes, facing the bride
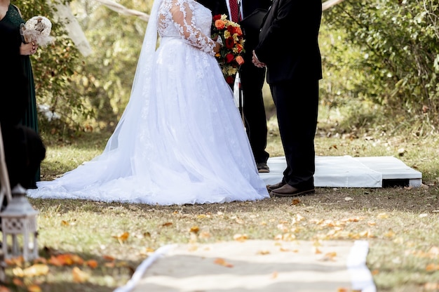
[{"label": "groom in black suit and brown shoes, facing the bride", "polygon": [[267,186],[271,197],[314,192],[321,17],[320,0],[273,0],[253,51],[253,63],[267,68],[287,161],[282,181]]}]

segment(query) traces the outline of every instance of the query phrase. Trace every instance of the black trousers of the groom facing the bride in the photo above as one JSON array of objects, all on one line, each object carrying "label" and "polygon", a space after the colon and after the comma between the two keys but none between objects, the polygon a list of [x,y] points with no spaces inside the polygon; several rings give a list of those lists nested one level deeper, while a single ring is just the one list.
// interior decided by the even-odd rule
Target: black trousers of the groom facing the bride
[{"label": "black trousers of the groom facing the bride", "polygon": [[270,84],[287,167],[283,182],[309,190],[316,171],[314,137],[318,116],[318,80],[306,78]]}]

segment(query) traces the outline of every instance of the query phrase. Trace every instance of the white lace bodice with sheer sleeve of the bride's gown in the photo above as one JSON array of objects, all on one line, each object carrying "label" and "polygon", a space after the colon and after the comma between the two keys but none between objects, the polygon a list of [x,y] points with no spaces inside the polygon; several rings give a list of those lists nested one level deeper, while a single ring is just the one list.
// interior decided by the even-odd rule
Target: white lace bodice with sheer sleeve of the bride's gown
[{"label": "white lace bodice with sheer sleeve of the bride's gown", "polygon": [[158,34],[181,37],[201,51],[215,55],[210,39],[212,13],[194,0],[163,0],[158,11]]}]

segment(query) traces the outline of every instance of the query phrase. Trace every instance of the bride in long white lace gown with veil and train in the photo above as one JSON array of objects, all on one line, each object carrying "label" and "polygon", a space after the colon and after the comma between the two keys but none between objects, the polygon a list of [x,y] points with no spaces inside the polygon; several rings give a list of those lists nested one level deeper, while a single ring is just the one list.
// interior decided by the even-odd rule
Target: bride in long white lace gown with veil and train
[{"label": "bride in long white lace gown with veil and train", "polygon": [[104,152],[28,196],[151,205],[268,198],[211,23],[194,0],[154,1],[130,101]]}]

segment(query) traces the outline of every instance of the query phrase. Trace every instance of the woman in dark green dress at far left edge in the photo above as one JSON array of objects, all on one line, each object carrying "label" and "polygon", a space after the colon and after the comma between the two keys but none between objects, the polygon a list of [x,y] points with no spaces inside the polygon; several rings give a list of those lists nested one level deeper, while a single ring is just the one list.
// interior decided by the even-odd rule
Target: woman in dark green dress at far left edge
[{"label": "woman in dark green dress at far left edge", "polygon": [[[20,25],[25,23],[23,20],[20,10],[17,6],[11,4],[10,0],[0,0],[0,22],[6,25],[12,25],[17,29],[17,38],[21,39],[20,35]],[[36,97],[35,97],[35,84],[34,84],[34,73],[32,72],[32,65],[30,62],[29,55],[36,53],[38,44],[29,43],[21,44],[20,55],[22,60],[22,65],[25,69],[25,74],[29,81],[29,107],[22,117],[22,124],[29,128],[32,128],[36,133],[38,130],[38,117],[36,116]],[[8,58],[6,56],[6,58]],[[4,68],[6,69],[6,68]],[[35,173],[35,182],[40,180],[40,171]],[[36,188],[35,182],[32,184],[32,188]]]}]

